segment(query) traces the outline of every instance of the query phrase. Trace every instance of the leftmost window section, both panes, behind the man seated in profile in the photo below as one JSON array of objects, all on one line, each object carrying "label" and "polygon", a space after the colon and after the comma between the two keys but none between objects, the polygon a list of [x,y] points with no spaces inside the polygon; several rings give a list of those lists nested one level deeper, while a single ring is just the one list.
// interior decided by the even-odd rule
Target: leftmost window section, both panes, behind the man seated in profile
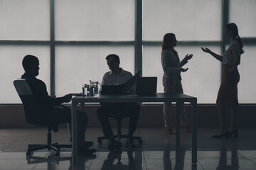
[{"label": "leftmost window section, both panes, behind the man seated in profile", "polygon": [[40,60],[40,75],[50,90],[50,4],[46,0],[0,1],[0,103],[21,103],[14,79],[23,74],[25,55]]}]

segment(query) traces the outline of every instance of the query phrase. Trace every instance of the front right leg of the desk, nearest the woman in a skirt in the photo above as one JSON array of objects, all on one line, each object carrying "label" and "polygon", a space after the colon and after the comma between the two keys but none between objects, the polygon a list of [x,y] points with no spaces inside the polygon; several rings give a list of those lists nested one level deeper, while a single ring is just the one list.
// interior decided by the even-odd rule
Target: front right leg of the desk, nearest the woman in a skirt
[{"label": "front right leg of the desk, nearest the woman in a skirt", "polygon": [[197,163],[197,101],[192,104],[192,164]]}]

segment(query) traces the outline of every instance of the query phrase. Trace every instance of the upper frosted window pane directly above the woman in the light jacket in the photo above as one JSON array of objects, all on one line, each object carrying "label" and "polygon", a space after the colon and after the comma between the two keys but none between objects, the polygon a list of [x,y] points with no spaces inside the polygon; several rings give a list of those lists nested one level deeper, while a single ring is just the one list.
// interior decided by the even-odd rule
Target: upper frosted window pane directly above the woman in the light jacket
[{"label": "upper frosted window pane directly above the woman in the light jacket", "polygon": [[178,40],[221,39],[221,0],[143,3],[144,40],[162,40],[166,33],[175,33]]}]

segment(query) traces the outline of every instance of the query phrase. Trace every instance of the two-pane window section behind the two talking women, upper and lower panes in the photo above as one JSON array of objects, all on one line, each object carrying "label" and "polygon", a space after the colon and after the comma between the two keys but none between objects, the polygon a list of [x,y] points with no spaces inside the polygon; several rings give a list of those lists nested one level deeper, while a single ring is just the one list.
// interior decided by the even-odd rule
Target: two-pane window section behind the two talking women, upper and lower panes
[{"label": "two-pane window section behind the two talking women, upper and lower panes", "polygon": [[201,47],[221,52],[221,1],[147,0],[143,11],[143,75],[157,76],[158,91],[164,91],[161,41],[166,33],[174,33],[180,59],[193,54],[184,66],[188,72],[181,74],[184,93],[196,96],[198,103],[214,103],[221,64],[202,52]]}]

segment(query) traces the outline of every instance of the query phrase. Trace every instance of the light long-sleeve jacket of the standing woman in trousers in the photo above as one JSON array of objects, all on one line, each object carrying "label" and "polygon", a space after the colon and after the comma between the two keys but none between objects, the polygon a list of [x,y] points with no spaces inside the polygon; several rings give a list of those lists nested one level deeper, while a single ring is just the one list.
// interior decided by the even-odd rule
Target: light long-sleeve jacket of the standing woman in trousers
[{"label": "light long-sleeve jacket of the standing woman in trousers", "polygon": [[176,52],[176,50],[164,50],[161,52],[161,64],[164,70],[163,79],[181,79],[181,67],[183,67],[187,62],[188,61],[185,58],[180,62],[178,52]]}]

